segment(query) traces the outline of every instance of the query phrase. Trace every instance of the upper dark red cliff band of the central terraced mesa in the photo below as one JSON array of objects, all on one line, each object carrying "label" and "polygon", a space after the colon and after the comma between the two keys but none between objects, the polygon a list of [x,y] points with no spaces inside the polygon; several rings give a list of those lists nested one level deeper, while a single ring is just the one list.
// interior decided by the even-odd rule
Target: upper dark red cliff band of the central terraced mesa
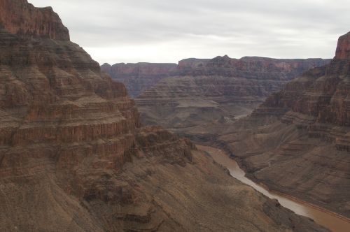
[{"label": "upper dark red cliff band of the central terraced mesa", "polygon": [[214,59],[185,59],[179,61],[178,73],[176,74],[292,80],[311,68],[323,66],[329,62],[330,59],[272,59],[265,57],[232,59],[225,55]]}]

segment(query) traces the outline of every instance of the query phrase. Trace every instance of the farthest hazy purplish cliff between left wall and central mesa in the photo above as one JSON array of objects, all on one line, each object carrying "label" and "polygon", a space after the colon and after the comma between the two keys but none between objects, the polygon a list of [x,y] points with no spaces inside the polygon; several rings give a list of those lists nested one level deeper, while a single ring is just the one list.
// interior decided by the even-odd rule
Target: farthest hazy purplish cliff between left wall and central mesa
[{"label": "farthest hazy purplish cliff between left wall and central mesa", "polygon": [[155,85],[160,79],[172,75],[176,64],[103,64],[101,70],[109,73],[113,79],[122,82],[127,87],[130,96],[138,96],[149,87]]}]

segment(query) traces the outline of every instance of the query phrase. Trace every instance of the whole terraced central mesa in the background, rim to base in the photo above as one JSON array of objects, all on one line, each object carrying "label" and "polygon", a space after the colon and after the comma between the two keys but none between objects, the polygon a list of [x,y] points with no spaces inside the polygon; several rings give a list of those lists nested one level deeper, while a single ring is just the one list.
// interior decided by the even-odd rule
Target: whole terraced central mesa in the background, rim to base
[{"label": "whole terraced central mesa in the background, rim to base", "polygon": [[300,73],[328,62],[228,56],[185,59],[179,61],[174,76],[159,80],[137,96],[136,102],[144,124],[183,129],[222,117],[234,120],[251,113]]}]

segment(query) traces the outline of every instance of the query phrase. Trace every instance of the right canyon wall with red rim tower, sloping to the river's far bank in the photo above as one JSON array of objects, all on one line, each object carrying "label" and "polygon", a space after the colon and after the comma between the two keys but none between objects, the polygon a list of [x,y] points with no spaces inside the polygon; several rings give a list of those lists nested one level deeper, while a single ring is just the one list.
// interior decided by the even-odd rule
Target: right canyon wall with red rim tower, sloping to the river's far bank
[{"label": "right canyon wall with red rim tower, sloping to the river's far bank", "polygon": [[212,125],[202,138],[212,136],[269,188],[350,217],[349,41],[349,33],[339,38],[327,66],[289,82],[248,117]]}]

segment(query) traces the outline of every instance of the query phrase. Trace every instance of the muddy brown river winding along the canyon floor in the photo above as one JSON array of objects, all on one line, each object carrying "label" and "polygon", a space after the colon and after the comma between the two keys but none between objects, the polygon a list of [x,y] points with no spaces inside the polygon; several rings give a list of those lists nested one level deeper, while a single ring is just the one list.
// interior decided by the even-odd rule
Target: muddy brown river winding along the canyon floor
[{"label": "muddy brown river winding along the canyon floor", "polygon": [[314,219],[316,223],[321,224],[322,226],[325,226],[334,232],[350,231],[350,219],[346,219],[340,215],[335,214],[334,212],[330,212],[329,210],[319,208],[316,205],[304,203],[302,201],[298,201],[295,198],[288,198],[288,196],[283,196],[283,194],[276,194],[275,192],[272,193],[259,184],[255,184],[255,182],[249,180],[245,176],[246,173],[244,173],[244,171],[239,168],[237,162],[233,159],[230,159],[230,157],[228,157],[228,155],[225,154],[223,150],[202,145],[197,145],[197,148],[204,152],[208,152],[218,164],[221,164],[228,168],[232,177],[235,177],[237,180],[250,185],[255,190],[259,191],[269,198],[277,199],[281,205],[292,210],[297,215],[302,215]]}]

